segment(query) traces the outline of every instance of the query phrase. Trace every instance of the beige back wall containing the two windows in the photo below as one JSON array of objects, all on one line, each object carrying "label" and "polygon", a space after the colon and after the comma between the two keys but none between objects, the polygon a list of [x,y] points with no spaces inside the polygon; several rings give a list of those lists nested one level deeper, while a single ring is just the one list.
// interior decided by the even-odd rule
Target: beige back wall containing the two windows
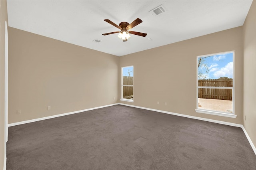
[{"label": "beige back wall containing the two windows", "polygon": [[[234,119],[196,113],[197,56],[232,50],[235,51],[237,117]],[[120,101],[121,103],[230,123],[243,123],[242,27],[120,57],[120,67],[128,65],[134,65],[134,103]],[[160,102],[159,105],[157,101]],[[165,102],[167,106],[164,105]]]}]

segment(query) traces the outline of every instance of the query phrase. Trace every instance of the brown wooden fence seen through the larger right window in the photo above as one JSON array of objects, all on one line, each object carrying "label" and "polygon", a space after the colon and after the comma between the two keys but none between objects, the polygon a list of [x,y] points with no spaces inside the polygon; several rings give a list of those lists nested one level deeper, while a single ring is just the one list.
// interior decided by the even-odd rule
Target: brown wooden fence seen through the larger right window
[{"label": "brown wooden fence seen through the larger right window", "polygon": [[[198,87],[232,87],[233,79],[198,80]],[[232,89],[198,88],[198,98],[232,100]]]}]

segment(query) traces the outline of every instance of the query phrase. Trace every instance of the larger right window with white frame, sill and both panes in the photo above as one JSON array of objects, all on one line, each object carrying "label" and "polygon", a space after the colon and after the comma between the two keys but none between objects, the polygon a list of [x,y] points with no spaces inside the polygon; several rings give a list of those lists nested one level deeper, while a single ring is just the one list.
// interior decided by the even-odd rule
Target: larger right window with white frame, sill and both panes
[{"label": "larger right window with white frame, sill and both panes", "polygon": [[196,112],[233,117],[234,51],[197,57]]}]

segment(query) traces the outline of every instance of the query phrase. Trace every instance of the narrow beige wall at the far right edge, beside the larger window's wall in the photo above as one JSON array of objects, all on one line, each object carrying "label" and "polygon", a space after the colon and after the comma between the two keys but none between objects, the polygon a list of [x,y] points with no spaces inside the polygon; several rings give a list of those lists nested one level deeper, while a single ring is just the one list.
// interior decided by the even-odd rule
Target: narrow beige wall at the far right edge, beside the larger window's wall
[{"label": "narrow beige wall at the far right edge, beside the larger window's wall", "polygon": [[[244,128],[256,146],[256,1],[243,26],[244,37]],[[245,120],[246,116],[246,120]]]}]

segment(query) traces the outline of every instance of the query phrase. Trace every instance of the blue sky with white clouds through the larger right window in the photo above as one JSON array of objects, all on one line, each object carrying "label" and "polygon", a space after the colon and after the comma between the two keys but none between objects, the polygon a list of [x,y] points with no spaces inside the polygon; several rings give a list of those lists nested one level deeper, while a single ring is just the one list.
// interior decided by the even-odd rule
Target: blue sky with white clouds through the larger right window
[{"label": "blue sky with white clouds through the larger right window", "polygon": [[223,53],[213,55],[204,59],[204,64],[208,67],[198,67],[198,72],[201,71],[205,79],[218,79],[220,77],[233,78],[233,53]]}]

